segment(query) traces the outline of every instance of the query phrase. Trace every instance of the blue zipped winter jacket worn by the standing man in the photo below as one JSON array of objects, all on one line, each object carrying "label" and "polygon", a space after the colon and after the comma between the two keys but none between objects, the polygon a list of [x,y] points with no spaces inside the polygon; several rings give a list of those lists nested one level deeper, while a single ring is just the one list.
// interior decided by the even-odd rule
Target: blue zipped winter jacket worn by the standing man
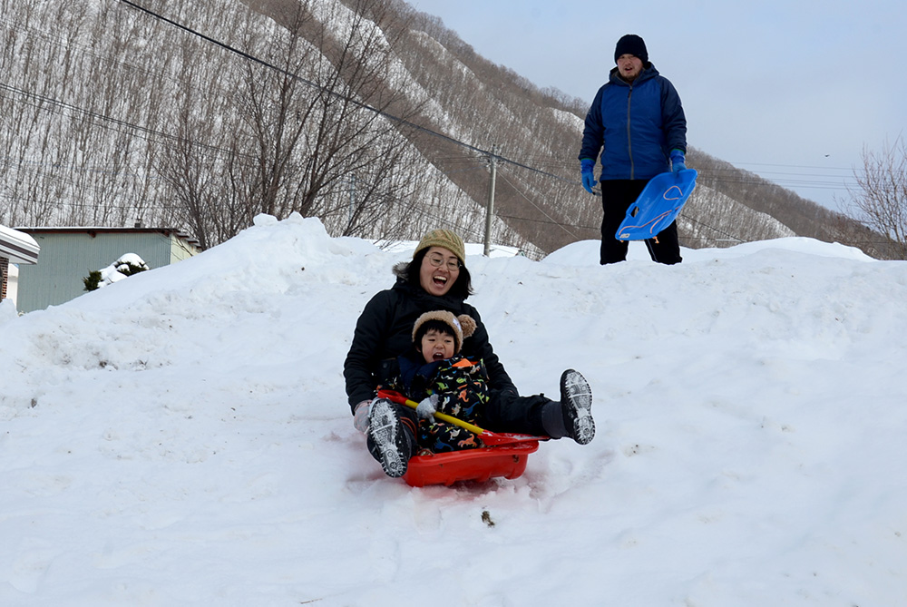
[{"label": "blue zipped winter jacket worn by the standing man", "polygon": [[580,160],[594,161],[601,151],[600,179],[651,179],[670,170],[671,150],[687,152],[687,118],[674,85],[652,64],[633,83],[611,70],[586,115]]}]

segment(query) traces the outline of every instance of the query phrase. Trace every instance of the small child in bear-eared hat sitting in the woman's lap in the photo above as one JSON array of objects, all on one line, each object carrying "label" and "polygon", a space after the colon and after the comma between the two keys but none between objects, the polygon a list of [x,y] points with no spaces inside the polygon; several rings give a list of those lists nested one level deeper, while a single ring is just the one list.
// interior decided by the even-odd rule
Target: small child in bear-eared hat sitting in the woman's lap
[{"label": "small child in bear-eared hat sitting in the woman's lap", "polygon": [[415,401],[419,449],[433,453],[475,449],[482,444],[469,430],[434,419],[445,413],[470,424],[482,421],[488,402],[488,377],[482,361],[473,363],[460,354],[463,339],[475,330],[475,321],[446,310],[425,312],[413,326],[414,350],[400,357],[400,375],[394,388]]}]

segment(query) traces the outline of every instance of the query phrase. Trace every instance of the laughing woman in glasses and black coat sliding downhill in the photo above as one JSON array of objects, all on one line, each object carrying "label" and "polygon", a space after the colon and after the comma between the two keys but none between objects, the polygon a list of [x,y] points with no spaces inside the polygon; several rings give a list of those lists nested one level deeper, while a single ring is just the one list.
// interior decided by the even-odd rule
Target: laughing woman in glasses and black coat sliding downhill
[{"label": "laughing woman in glasses and black coat sliding downhill", "polygon": [[485,427],[493,432],[569,436],[586,445],[595,436],[589,384],[572,369],[561,375],[561,400],[542,395],[521,397],[488,341],[478,311],[465,303],[472,294],[464,265],[463,240],[450,230],[432,230],[420,240],[413,260],[398,264],[391,289],[378,292],[356,321],[353,343],[344,363],[346,396],[356,429],[366,433],[368,451],[388,476],[403,476],[417,450],[418,414],[376,398],[378,387],[400,377],[397,357],[412,352],[416,320],[426,312],[446,310],[475,323],[463,338],[462,355],[481,362],[487,374]]}]

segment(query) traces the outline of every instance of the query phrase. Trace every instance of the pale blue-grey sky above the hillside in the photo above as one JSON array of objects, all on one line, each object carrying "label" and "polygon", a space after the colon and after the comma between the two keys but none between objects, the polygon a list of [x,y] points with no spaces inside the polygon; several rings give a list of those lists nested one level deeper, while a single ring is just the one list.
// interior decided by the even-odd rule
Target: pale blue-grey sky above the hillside
[{"label": "pale blue-grey sky above the hillside", "polygon": [[493,63],[589,103],[618,38],[639,34],[680,93],[690,145],[832,209],[864,146],[907,138],[903,0],[407,1]]}]

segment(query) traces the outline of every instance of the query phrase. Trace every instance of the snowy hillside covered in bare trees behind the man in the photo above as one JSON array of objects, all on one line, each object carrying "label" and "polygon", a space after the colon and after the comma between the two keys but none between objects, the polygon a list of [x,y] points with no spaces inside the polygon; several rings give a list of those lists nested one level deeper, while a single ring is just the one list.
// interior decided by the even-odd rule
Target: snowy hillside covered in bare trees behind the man
[{"label": "snowy hillside covered in bare trees behind the man", "polygon": [[[598,237],[586,107],[403,0],[0,0],[0,223],[134,223],[210,247],[265,212],[334,235],[451,225],[539,257]],[[692,142],[695,146],[695,142]],[[704,152],[682,243],[859,227]],[[853,236],[853,234],[857,234]]]}]

